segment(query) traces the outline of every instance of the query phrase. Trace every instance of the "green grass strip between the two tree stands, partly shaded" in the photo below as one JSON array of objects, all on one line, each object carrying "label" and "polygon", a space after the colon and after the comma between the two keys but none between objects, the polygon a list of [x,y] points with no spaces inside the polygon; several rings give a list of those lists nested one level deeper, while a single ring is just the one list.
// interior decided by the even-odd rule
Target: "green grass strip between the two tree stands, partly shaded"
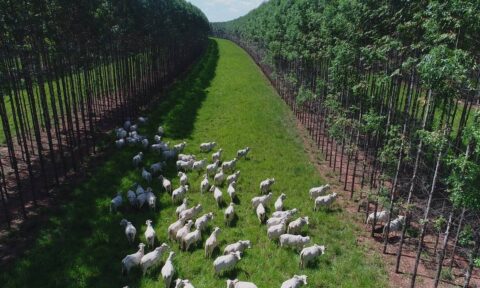
[{"label": "green grass strip between the two tree stands, partly shaded", "polygon": [[[112,151],[109,160],[94,169],[89,178],[69,192],[68,199],[59,211],[50,212],[50,220],[38,232],[32,247],[15,265],[0,272],[2,287],[164,287],[161,266],[142,277],[138,269],[128,277],[120,273],[120,261],[134,253],[139,241],[145,242],[145,221],[153,220],[157,232],[156,244],[167,242],[177,252],[174,260],[177,275],[192,281],[195,287],[225,287],[227,277],[237,277],[257,284],[259,288],[280,287],[294,274],[308,275],[306,287],[386,287],[386,273],[380,260],[371,256],[355,241],[355,227],[348,223],[345,212],[334,206],[331,211],[313,213],[308,188],[322,184],[315,167],[309,163],[303,143],[295,128],[295,119],[288,107],[276,95],[267,79],[245,51],[225,40],[212,40],[206,56],[197,63],[186,79],[179,81],[172,91],[153,107],[149,125],[141,134],[153,137],[159,123],[166,127],[170,143],[187,141],[185,153],[197,158],[198,144],[216,141],[224,149],[224,160],[235,156],[237,149],[250,146],[249,160],[240,160],[241,171],[237,186],[238,220],[234,227],[225,227],[223,210],[217,208],[213,195],[199,193],[202,176],[189,173],[191,184],[188,197],[190,205],[203,205],[204,213],[215,214],[210,230],[202,235],[202,245],[190,252],[180,252],[178,245],[167,242],[167,227],[175,221],[176,205],[170,196],[160,191],[160,183],[151,184],[158,196],[159,212],[146,208],[135,211],[124,205],[118,213],[110,214],[108,205],[116,191],[126,193],[135,182],[147,187],[141,172],[134,169],[131,158],[139,151],[129,147]],[[113,140],[109,143],[113,143]],[[146,164],[157,162],[159,157],[146,152]],[[174,178],[174,164],[165,173],[178,186]],[[277,246],[268,240],[266,227],[260,226],[251,208],[250,199],[259,194],[259,182],[275,177],[274,199],[286,193],[286,208],[298,208],[297,216],[310,216],[310,226],[304,234],[312,243],[324,244],[325,255],[317,264],[298,268],[298,253]],[[229,202],[226,187],[222,188]],[[157,200],[157,201],[158,201]],[[124,197],[124,201],[126,199]],[[127,244],[119,226],[127,218],[137,228],[134,247]],[[295,217],[296,218],[296,217]],[[203,243],[213,227],[219,226],[220,248],[227,243],[249,239],[252,249],[247,249],[237,268],[221,277],[213,274],[213,259],[205,259]],[[148,250],[149,252],[150,250]],[[219,254],[215,251],[214,257]],[[166,255],[165,255],[166,256]],[[164,257],[166,258],[166,257]],[[160,278],[159,278],[160,276]]]}]

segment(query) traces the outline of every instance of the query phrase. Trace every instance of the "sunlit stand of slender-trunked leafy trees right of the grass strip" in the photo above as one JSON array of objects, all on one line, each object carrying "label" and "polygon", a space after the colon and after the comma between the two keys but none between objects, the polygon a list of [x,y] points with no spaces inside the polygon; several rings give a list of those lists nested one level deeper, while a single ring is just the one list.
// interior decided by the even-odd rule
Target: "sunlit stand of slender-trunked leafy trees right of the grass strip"
[{"label": "sunlit stand of slender-trunked leafy trees right of the grass strip", "polygon": [[358,210],[386,212],[397,273],[413,246],[410,287],[421,261],[435,287],[457,255],[464,287],[479,262],[479,20],[477,1],[271,0],[212,25],[269,76]]}]

